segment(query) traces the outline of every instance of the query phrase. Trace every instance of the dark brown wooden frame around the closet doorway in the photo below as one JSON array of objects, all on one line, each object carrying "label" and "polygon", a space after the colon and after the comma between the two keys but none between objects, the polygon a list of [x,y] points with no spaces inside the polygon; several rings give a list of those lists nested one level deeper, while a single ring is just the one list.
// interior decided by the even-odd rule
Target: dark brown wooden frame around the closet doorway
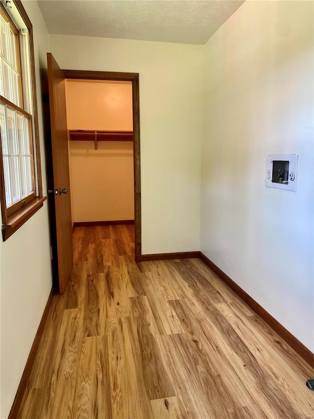
[{"label": "dark brown wooden frame around the closet doorway", "polygon": [[65,79],[111,80],[132,82],[133,110],[133,170],[134,170],[134,246],[135,262],[142,256],[142,218],[141,218],[141,161],[139,129],[139,84],[138,73],[120,73],[111,71],[62,70]]}]

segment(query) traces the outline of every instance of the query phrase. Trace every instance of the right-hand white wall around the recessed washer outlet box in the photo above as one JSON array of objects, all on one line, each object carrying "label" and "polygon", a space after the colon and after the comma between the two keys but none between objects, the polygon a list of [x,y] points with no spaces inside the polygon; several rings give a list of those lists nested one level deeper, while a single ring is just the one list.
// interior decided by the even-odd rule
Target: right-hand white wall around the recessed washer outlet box
[{"label": "right-hand white wall around the recessed washer outlet box", "polygon": [[[201,201],[201,250],[312,351],[313,47],[312,1],[246,1],[209,39]],[[265,187],[276,153],[296,193]]]}]

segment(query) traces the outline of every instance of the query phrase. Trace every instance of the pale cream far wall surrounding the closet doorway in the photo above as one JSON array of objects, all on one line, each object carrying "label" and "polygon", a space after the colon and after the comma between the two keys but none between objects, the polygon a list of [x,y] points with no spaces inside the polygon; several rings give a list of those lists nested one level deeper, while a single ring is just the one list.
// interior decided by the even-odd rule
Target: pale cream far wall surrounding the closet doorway
[{"label": "pale cream far wall surrounding the closet doorway", "polygon": [[142,253],[200,248],[202,46],[51,35],[61,68],[139,73]]}]

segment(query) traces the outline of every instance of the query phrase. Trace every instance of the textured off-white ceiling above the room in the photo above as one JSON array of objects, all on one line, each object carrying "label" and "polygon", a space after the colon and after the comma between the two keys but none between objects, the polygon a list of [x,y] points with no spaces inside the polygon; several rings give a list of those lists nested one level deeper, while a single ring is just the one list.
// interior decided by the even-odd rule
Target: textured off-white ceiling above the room
[{"label": "textured off-white ceiling above the room", "polygon": [[205,44],[244,0],[38,0],[50,33]]}]

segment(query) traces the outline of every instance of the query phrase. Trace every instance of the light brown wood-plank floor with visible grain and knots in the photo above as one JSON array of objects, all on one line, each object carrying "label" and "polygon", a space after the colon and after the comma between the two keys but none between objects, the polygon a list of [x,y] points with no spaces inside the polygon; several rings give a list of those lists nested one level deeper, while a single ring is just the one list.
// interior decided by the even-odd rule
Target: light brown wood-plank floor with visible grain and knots
[{"label": "light brown wood-plank floor with visible grain and knots", "polygon": [[133,228],[75,228],[19,418],[314,416],[314,370],[200,259],[135,263]]}]

